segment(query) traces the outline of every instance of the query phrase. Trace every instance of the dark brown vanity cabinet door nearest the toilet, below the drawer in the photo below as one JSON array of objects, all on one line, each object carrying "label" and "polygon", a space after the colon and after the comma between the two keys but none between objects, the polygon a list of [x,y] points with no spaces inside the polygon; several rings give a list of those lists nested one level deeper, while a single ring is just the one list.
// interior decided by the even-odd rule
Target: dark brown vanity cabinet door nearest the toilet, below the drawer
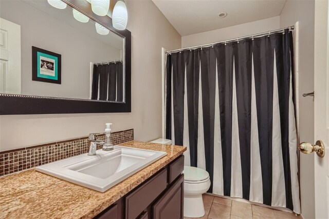
[{"label": "dark brown vanity cabinet door nearest the toilet, below the drawer", "polygon": [[181,174],[152,207],[156,219],[184,218],[184,174]]}]

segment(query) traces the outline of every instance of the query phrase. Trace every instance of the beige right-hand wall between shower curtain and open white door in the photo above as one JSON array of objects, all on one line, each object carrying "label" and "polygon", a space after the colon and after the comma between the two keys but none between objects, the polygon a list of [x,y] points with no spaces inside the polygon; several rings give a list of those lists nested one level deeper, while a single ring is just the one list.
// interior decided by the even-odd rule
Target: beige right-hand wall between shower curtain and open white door
[{"label": "beige right-hand wall between shower curtain and open white door", "polygon": [[[299,128],[300,142],[314,144],[314,102],[303,93],[314,90],[314,1],[287,1],[280,15],[281,28],[299,22]],[[296,50],[296,48],[295,48]],[[300,153],[301,210],[315,218],[314,154]]]}]

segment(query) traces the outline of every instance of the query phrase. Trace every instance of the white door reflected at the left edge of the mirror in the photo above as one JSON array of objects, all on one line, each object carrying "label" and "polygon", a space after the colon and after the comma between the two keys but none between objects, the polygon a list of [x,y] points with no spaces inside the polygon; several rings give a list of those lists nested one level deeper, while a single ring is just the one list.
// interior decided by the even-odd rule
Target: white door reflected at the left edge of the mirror
[{"label": "white door reflected at the left edge of the mirror", "polygon": [[21,94],[21,26],[1,17],[0,93]]}]

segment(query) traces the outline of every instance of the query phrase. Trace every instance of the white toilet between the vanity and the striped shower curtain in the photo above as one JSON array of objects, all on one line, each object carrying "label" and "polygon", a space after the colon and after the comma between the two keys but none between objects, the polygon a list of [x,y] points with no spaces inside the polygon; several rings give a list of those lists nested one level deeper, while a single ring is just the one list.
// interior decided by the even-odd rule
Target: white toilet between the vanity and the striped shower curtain
[{"label": "white toilet between the vanity and the striped shower curtain", "polygon": [[[171,141],[159,138],[152,143],[171,145]],[[205,207],[202,194],[210,188],[209,173],[206,170],[184,166],[184,216],[202,217]]]}]

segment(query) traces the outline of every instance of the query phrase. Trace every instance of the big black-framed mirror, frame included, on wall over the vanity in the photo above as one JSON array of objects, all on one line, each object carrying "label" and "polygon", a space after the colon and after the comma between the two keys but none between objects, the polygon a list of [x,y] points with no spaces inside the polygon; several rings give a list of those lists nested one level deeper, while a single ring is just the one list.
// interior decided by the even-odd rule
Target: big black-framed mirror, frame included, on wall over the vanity
[{"label": "big black-framed mirror, frame included, on wall over the vanity", "polygon": [[[110,12],[117,1],[118,0],[111,0],[109,6]],[[61,16],[59,18],[52,17],[53,20],[51,22],[46,22],[45,16],[51,17],[52,13],[56,13],[56,14],[62,13],[61,10],[64,9],[49,8],[49,6],[46,5],[45,7],[48,7],[49,10],[46,10],[47,13],[45,13],[44,11],[38,9],[39,6],[35,6],[35,4],[38,5],[40,3],[46,4],[47,1],[45,0],[31,1],[31,2],[0,1],[1,17],[4,16],[4,19],[7,18],[7,21],[9,21],[10,18],[9,16],[11,16],[10,14],[15,15],[15,16],[11,16],[10,19],[12,19],[12,21],[9,21],[10,22],[9,24],[21,25],[19,24],[19,21],[21,21],[20,20],[21,17],[23,17],[24,19],[33,18],[34,20],[32,25],[34,24],[34,22],[35,23],[42,22],[42,25],[34,27],[35,29],[32,29],[30,26],[21,25],[20,26],[21,29],[17,30],[16,28],[16,31],[14,30],[6,31],[5,30],[6,26],[2,21],[0,22],[0,26],[2,29],[0,32],[0,36],[1,36],[0,48],[2,49],[0,69],[2,72],[1,77],[6,78],[6,81],[2,79],[0,83],[0,90],[3,91],[0,92],[0,115],[131,112],[131,32],[127,29],[125,30],[114,29],[112,25],[112,18],[109,16],[99,16],[97,14],[94,14],[90,7],[90,3],[85,0],[61,0],[61,2],[67,4],[67,8],[65,10],[67,10],[68,13],[71,14],[71,16],[73,16],[72,8],[76,9],[78,12],[81,12],[83,15],[87,16],[87,18],[89,18],[88,24],[85,23],[80,24],[80,22],[76,22],[75,20],[72,20],[72,17],[70,17],[68,19],[71,19],[70,20],[71,22],[73,21],[76,22],[75,25],[72,26],[72,23],[66,21],[66,19],[63,19]],[[16,7],[8,8],[6,6],[7,3],[15,4],[15,6],[17,7],[20,7],[18,4],[22,4],[24,6],[24,9],[21,8],[21,10],[19,11],[19,9]],[[28,17],[27,15],[29,14],[27,10],[28,8],[34,11],[35,10],[40,11],[39,13],[43,13],[43,17],[38,18],[34,16],[35,14],[32,15],[30,14],[31,17]],[[50,11],[52,11],[51,14],[49,14]],[[64,20],[64,24],[66,25],[66,28],[60,30],[59,26],[64,25],[63,20]],[[61,21],[62,23],[60,23]],[[113,101],[113,99],[109,98],[110,95],[108,94],[108,92],[109,90],[111,90],[111,86],[110,86],[111,83],[109,83],[110,80],[109,78],[111,77],[107,76],[107,81],[102,82],[103,84],[107,83],[107,86],[103,86],[103,84],[100,83],[101,73],[98,73],[98,71],[96,71],[93,65],[94,62],[105,61],[105,63],[101,63],[104,66],[104,64],[107,64],[107,62],[112,61],[111,57],[109,57],[109,54],[106,53],[108,56],[105,60],[85,59],[88,53],[91,53],[92,51],[95,52],[95,50],[93,50],[92,48],[90,49],[90,51],[84,50],[87,44],[88,46],[90,45],[93,46],[94,42],[96,42],[97,40],[91,37],[91,35],[95,36],[96,24],[93,22],[97,22],[98,24],[105,27],[105,30],[103,29],[103,31],[106,31],[106,29],[108,29],[109,32],[107,36],[111,35],[113,37],[116,37],[118,40],[119,39],[122,40],[122,53],[120,53],[120,58],[122,57],[122,79],[121,78],[117,79],[115,83],[116,85],[115,89],[113,89],[112,87],[112,90],[115,90],[116,92],[118,92],[118,90],[122,90],[122,102],[121,102],[121,96],[120,94],[118,95],[118,93],[115,93],[115,95],[113,94],[111,96],[111,98],[114,98],[115,96],[116,101]],[[86,31],[87,26],[82,26],[82,25],[89,25],[89,23],[91,26],[93,26],[93,29]],[[77,27],[80,27],[82,29],[78,29]],[[72,29],[77,29],[77,31],[80,31],[81,34],[80,35],[76,34],[75,37],[69,35],[68,34],[69,31],[72,31]],[[25,38],[26,34],[28,36],[27,40],[31,41],[33,45],[31,43],[26,44],[23,41],[23,38]],[[52,37],[52,35],[54,34],[57,35]],[[15,47],[19,47],[19,49],[17,50],[21,50],[21,53],[15,53],[17,55],[13,56],[14,58],[12,58],[10,62],[6,62],[6,60],[8,60],[9,55],[11,55],[8,50],[9,49],[8,44],[6,43],[9,43],[8,41],[9,38],[10,40],[14,40],[14,38],[17,36],[21,37],[20,39],[21,43],[13,44],[13,46],[11,46],[10,49],[17,49]],[[81,40],[86,36],[89,36],[92,41]],[[99,35],[96,36],[100,41],[100,37],[102,36]],[[68,44],[67,42],[71,38],[74,38],[75,41],[80,42],[80,44],[74,44],[75,46],[70,47],[72,45]],[[109,39],[106,38],[104,39],[105,42],[101,41],[101,43],[105,44],[108,40]],[[69,47],[70,49],[66,49]],[[96,52],[102,53],[102,51],[100,50],[97,50]],[[26,58],[25,56],[28,57]],[[79,59],[78,57],[80,57],[81,59]],[[74,60],[75,58],[77,62],[74,61],[68,62],[67,61],[68,58],[72,58],[70,60]],[[25,62],[26,64],[24,64]],[[89,80],[86,79],[86,75],[83,75],[82,72],[80,72],[80,70],[77,70],[78,67],[82,65],[83,62],[88,63],[87,64],[88,70],[86,74]],[[9,64],[11,63],[15,63],[14,67],[16,68],[16,70],[9,71]],[[67,66],[66,65],[67,63],[71,69],[70,71],[67,71],[67,67],[65,67],[66,70],[64,70],[64,66]],[[44,65],[46,65],[47,68],[46,67],[42,68]],[[86,66],[86,64],[84,65]],[[98,67],[100,65],[98,64]],[[96,63],[96,67],[97,67],[97,63]],[[6,76],[3,77],[4,72],[10,72],[10,74],[6,74]],[[94,77],[95,75],[94,73],[96,74],[95,77]],[[98,81],[97,81],[97,75],[98,75]],[[118,77],[120,76],[118,76],[117,74],[116,78]],[[82,84],[82,82],[79,81],[80,78],[84,78],[85,82],[87,81],[88,84]],[[97,82],[98,82],[98,88],[94,87],[93,89],[93,78],[96,78],[94,80],[94,84],[96,84],[95,86],[97,86]],[[7,83],[9,79],[11,83]],[[69,79],[71,79],[71,81],[69,81]],[[122,80],[122,84],[120,84],[121,80]],[[24,92],[26,92],[25,84],[24,84],[26,83],[26,81],[28,83],[33,83],[33,85],[30,86],[31,89],[37,88],[38,86],[42,87],[43,89],[41,90],[38,88],[38,91],[40,93],[35,92],[35,93],[30,93],[29,95],[27,95],[27,93],[24,94]],[[67,84],[69,86],[66,87],[66,89],[64,89],[65,88],[64,85],[67,82],[69,82]],[[120,88],[121,85],[122,85],[122,89]],[[4,89],[5,86],[7,86],[6,89]],[[57,89],[55,89],[56,91],[54,91],[53,93],[48,93],[48,90],[50,90],[50,88],[53,88],[54,86],[57,86],[56,87]],[[81,95],[82,91],[79,91],[79,89],[82,89],[82,87],[86,87],[86,89],[84,88],[83,91],[84,96]],[[63,90],[65,92],[63,92]],[[93,92],[93,90],[95,92]],[[101,94],[102,97],[100,98]],[[97,98],[95,98],[95,96],[97,96]]]}]

